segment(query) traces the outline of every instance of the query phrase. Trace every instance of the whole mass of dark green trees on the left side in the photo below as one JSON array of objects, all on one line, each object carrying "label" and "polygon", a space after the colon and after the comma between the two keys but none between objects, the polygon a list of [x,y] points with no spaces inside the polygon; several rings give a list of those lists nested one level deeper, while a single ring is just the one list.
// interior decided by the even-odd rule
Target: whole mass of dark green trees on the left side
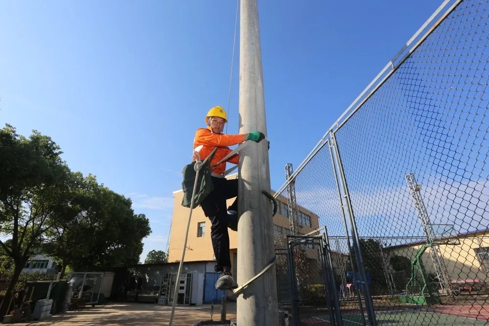
[{"label": "whole mass of dark green trees on the left side", "polygon": [[[50,137],[0,129],[0,255],[11,271],[0,316],[29,256],[43,252],[64,266],[103,270],[138,262],[149,221],[131,200],[72,172]],[[6,303],[5,303],[6,302]]]}]

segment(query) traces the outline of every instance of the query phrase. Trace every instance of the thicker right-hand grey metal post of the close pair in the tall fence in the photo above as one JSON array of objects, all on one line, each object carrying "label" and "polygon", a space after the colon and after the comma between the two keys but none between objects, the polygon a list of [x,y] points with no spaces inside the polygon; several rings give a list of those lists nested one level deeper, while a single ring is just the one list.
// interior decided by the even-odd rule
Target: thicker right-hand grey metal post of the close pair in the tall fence
[{"label": "thicker right-hand grey metal post of the close pair in the tall fence", "polygon": [[[341,185],[343,187],[344,191],[344,198],[347,203],[347,210],[348,210],[348,218],[351,226],[351,235],[353,237],[353,249],[355,250],[355,256],[356,256],[356,261],[358,265],[358,272],[360,273],[360,278],[363,282],[363,296],[365,299],[365,307],[367,308],[367,315],[369,317],[369,322],[370,325],[376,326],[377,321],[375,319],[375,313],[373,311],[373,302],[372,302],[372,296],[370,294],[370,289],[368,286],[367,282],[367,275],[365,273],[365,266],[363,263],[363,256],[362,256],[362,250],[360,248],[360,241],[358,239],[358,230],[356,227],[356,222],[355,222],[355,217],[353,215],[353,207],[351,206],[351,200],[349,196],[349,191],[348,191],[348,185],[347,185],[347,180],[345,177],[345,172],[343,171],[343,164],[341,162],[341,156],[340,156],[340,151],[338,149],[338,143],[336,142],[336,138],[334,136],[334,132],[331,131],[331,140],[332,140],[332,147],[334,149],[334,156],[336,158],[336,164],[338,165],[338,172],[340,175],[340,181]],[[354,273],[353,273],[354,274]]]}]

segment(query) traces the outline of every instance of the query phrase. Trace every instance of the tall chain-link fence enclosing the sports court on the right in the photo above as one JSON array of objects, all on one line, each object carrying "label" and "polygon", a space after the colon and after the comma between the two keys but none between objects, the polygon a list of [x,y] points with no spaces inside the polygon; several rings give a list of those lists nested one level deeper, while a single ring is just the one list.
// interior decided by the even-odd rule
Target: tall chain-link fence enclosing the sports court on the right
[{"label": "tall chain-link fence enclosing the sports court on the right", "polygon": [[445,1],[277,192],[296,324],[334,324],[329,289],[337,325],[489,325],[488,20],[487,0]]}]

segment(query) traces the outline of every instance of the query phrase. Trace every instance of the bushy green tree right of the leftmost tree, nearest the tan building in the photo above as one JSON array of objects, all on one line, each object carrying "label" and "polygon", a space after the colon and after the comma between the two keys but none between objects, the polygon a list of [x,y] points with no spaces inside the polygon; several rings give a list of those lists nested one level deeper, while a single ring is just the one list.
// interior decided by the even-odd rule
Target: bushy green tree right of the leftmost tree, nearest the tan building
[{"label": "bushy green tree right of the leftmost tree, nearest the tan building", "polygon": [[130,199],[98,185],[94,176],[79,178],[79,184],[77,216],[56,221],[45,252],[63,266],[79,271],[137,264],[141,241],[151,233],[149,220],[134,213]]}]

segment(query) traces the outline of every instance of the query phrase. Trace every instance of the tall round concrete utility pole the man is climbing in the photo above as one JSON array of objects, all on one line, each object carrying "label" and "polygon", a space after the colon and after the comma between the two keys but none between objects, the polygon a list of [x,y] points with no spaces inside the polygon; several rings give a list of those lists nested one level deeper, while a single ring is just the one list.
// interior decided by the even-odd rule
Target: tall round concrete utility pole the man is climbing
[{"label": "tall round concrete utility pole the man is climbing", "polygon": [[[267,134],[257,0],[241,0],[239,55],[239,133]],[[239,154],[238,284],[257,275],[275,256],[270,166],[265,140]],[[278,325],[275,266],[248,285],[237,299],[240,326]]]}]

